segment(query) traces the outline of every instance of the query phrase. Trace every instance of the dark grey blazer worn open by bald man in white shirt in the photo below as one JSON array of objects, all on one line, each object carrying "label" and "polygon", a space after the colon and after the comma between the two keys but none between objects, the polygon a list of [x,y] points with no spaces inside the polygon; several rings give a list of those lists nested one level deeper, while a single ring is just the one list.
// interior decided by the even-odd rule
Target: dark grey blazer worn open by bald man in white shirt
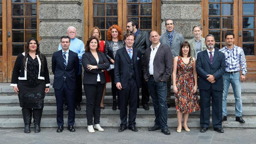
[{"label": "dark grey blazer worn open by bald man in white shirt", "polygon": [[[149,79],[149,61],[150,61],[151,48],[145,51],[145,58],[143,62],[143,75],[144,79]],[[167,82],[173,69],[173,55],[169,47],[160,44],[153,62],[154,66],[154,80],[159,82],[161,79]]]}]

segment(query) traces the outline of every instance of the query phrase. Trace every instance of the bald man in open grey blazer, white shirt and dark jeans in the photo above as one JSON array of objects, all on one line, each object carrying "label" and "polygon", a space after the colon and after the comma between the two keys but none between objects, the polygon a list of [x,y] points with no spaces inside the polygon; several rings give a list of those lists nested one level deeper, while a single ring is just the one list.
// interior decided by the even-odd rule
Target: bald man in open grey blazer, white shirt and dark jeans
[{"label": "bald man in open grey blazer, white shirt and dark jeans", "polygon": [[167,126],[168,107],[166,104],[167,80],[173,67],[173,55],[171,49],[160,42],[160,36],[156,31],[150,33],[152,45],[145,51],[143,62],[144,79],[153,101],[155,111],[155,125],[149,131],[161,129],[164,134],[170,134]]}]

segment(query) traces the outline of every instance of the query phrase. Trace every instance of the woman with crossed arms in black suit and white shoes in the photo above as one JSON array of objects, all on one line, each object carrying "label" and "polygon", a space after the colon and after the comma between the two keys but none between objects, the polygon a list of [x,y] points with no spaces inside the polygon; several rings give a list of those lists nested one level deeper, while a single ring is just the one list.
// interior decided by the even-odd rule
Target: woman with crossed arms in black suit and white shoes
[{"label": "woman with crossed arms in black suit and white shoes", "polygon": [[104,131],[99,125],[100,102],[104,86],[106,83],[105,72],[109,68],[109,61],[104,53],[99,51],[99,40],[92,36],[86,42],[85,53],[83,54],[82,64],[83,87],[86,95],[86,117],[88,131],[94,133],[94,128],[98,131]]}]

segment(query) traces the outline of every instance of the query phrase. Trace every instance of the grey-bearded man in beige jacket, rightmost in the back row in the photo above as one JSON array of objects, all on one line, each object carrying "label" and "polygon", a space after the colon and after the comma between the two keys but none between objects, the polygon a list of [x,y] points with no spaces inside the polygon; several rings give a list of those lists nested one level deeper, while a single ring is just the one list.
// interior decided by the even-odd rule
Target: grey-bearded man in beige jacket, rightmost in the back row
[{"label": "grey-bearded man in beige jacket, rightmost in the back row", "polygon": [[203,28],[201,25],[193,26],[192,33],[194,35],[194,38],[189,40],[191,56],[195,59],[197,58],[197,54],[199,52],[206,50],[205,38],[201,36],[202,30]]}]

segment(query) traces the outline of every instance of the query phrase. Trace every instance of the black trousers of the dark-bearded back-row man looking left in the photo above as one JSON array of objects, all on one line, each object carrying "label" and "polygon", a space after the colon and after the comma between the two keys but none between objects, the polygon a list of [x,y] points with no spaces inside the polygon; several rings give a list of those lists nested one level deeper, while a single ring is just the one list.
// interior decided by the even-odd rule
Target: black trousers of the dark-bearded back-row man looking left
[{"label": "black trousers of the dark-bearded back-row man looking left", "polygon": [[[143,63],[144,60],[144,56],[141,56],[141,63]],[[149,91],[148,91],[148,86],[147,86],[147,82],[145,81],[145,79],[143,78],[143,70],[141,70],[141,103],[142,104],[148,104],[149,101]],[[139,106],[140,104],[140,95],[139,95],[139,91],[140,89],[138,89],[138,97],[137,97],[137,106]]]}]

